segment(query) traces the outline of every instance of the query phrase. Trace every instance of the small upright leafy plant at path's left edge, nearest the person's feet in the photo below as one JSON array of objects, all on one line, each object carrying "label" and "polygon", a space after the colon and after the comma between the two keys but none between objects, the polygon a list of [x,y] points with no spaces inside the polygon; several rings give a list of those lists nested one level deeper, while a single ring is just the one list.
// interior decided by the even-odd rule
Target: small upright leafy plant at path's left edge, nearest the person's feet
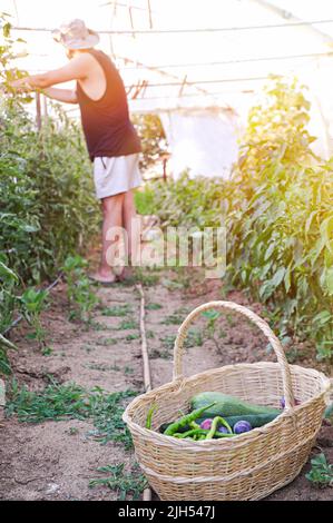
[{"label": "small upright leafy plant at path's left edge, nearest the person's feet", "polygon": [[67,296],[71,307],[71,317],[78,316],[84,322],[91,319],[91,312],[98,304],[98,297],[91,290],[91,283],[86,276],[87,262],[81,256],[68,256],[62,266],[67,280]]}]

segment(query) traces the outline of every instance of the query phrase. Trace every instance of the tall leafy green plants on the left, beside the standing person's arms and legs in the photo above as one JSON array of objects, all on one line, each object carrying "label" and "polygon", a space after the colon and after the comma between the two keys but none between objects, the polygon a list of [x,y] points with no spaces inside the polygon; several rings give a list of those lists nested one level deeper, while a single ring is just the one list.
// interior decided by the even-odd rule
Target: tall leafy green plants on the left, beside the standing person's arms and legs
[{"label": "tall leafy green plants on the left, beside the standing person's arms and legs", "polygon": [[0,245],[28,284],[57,275],[66,257],[87,247],[100,221],[82,132],[60,106],[36,127],[31,95],[11,89],[25,76],[16,67],[20,39],[0,14]]}]

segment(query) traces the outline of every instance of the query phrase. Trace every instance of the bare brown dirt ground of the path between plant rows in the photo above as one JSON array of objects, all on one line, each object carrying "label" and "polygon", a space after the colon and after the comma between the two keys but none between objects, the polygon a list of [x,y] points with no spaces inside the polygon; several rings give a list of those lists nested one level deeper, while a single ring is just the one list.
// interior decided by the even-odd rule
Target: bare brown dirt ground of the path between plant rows
[{"label": "bare brown dirt ground of the path between plant rows", "polygon": [[[261,313],[259,304],[248,304],[238,292],[225,296],[221,283],[203,280],[188,269],[158,273],[158,282],[145,286],[146,330],[154,387],[172,379],[173,341],[180,322],[195,306],[212,299],[229,299]],[[94,313],[89,329],[68,319],[66,285],[51,294],[51,304],[42,315],[52,352],[43,356],[35,341],[27,339],[29,328],[21,323],[12,332],[19,347],[11,354],[14,377],[31,391],[42,389],[48,375],[59,383],[75,382],[88,389],[107,392],[143,391],[143,365],[139,338],[139,295],[134,285],[117,284],[99,288],[100,306]],[[128,305],[124,317],[106,316],[105,307]],[[123,327],[121,327],[123,326]],[[186,374],[229,363],[272,361],[267,342],[247,320],[227,315],[218,323],[215,341],[205,339],[198,323],[190,333],[186,349]],[[297,361],[297,359],[296,359]],[[293,362],[294,363],[294,362]],[[301,365],[311,366],[305,353]],[[102,445],[90,437],[90,421],[48,421],[21,423],[16,416],[0,421],[0,499],[1,500],[116,500],[117,493],[106,486],[89,487],[98,477],[97,467],[125,463],[129,471],[133,451],[118,443]],[[313,453],[323,451],[333,463],[333,426],[323,426]],[[317,490],[301,475],[267,500],[332,500],[332,489]]]}]

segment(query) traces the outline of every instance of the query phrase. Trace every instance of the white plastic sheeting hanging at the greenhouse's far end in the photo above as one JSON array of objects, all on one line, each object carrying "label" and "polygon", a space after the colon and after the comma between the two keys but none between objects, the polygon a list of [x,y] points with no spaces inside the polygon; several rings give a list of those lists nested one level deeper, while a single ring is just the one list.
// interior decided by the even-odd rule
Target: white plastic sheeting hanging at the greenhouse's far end
[{"label": "white plastic sheeting hanging at the greenhouse's far end", "polygon": [[237,116],[217,108],[178,109],[159,114],[172,157],[174,178],[190,176],[228,178],[237,159]]}]

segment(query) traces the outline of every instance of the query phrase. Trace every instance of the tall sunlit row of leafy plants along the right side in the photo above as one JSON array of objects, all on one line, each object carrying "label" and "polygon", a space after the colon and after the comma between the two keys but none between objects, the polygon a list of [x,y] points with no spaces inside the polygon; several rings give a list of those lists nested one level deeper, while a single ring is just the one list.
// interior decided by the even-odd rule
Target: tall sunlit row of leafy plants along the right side
[{"label": "tall sunlit row of leafy plants along the right side", "polygon": [[311,149],[308,109],[303,86],[272,78],[249,111],[229,180],[184,174],[147,190],[163,227],[224,225],[227,287],[245,289],[274,312],[272,327],[281,338],[307,338],[319,359],[330,361],[333,160],[323,161]]}]

